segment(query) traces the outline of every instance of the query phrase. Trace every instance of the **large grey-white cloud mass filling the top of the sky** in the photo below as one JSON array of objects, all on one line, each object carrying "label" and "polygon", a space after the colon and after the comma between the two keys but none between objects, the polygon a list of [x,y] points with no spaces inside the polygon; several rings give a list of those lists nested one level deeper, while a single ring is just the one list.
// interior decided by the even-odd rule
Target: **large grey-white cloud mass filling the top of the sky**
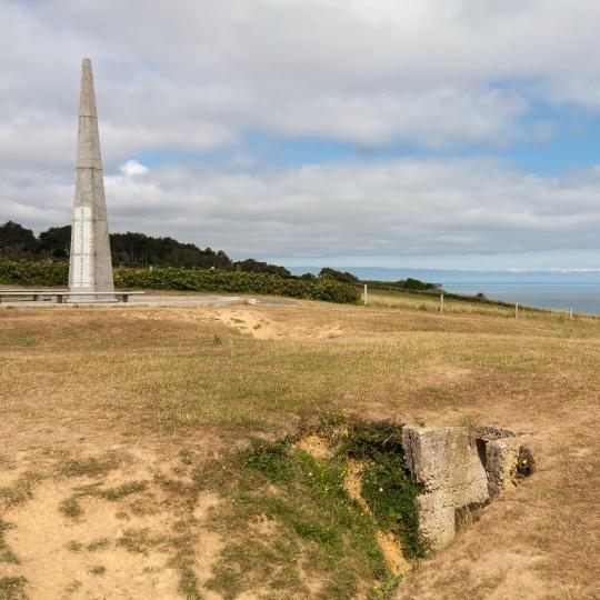
[{"label": "large grey-white cloud mass filling the top of the sky", "polygon": [[58,138],[38,153],[67,164],[83,56],[114,160],[257,129],[501,147],[539,127],[531,94],[600,110],[599,19],[593,0],[0,0],[0,152]]}]

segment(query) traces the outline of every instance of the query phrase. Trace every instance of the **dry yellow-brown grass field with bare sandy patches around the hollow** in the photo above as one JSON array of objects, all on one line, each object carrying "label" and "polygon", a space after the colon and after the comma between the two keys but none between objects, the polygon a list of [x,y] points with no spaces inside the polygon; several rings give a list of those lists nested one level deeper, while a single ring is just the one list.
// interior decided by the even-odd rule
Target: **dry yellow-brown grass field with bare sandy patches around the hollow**
[{"label": "dry yellow-brown grass field with bare sandy patches around the hollow", "polygon": [[[0,310],[0,599],[599,598],[600,322],[393,304]],[[398,583],[339,473],[240,460],[336,411],[538,471]]]}]

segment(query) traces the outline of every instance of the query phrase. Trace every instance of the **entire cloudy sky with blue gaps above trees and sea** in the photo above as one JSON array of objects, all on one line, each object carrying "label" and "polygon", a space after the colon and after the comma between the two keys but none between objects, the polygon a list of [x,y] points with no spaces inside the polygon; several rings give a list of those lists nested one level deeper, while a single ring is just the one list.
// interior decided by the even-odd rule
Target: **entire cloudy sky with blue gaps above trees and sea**
[{"label": "entire cloudy sky with blue gaps above trees and sea", "polygon": [[293,264],[600,267],[597,0],[0,0],[0,221]]}]

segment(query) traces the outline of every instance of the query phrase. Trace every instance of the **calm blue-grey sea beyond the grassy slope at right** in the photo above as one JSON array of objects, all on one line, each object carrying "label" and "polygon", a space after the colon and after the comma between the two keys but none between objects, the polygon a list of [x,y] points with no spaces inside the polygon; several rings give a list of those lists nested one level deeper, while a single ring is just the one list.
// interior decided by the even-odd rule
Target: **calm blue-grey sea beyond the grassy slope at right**
[{"label": "calm blue-grey sea beyond the grassy slope at right", "polygon": [[564,311],[572,308],[573,312],[600,314],[600,270],[469,271],[370,267],[339,269],[352,272],[360,279],[398,281],[412,277],[438,283],[449,292],[481,292],[492,300]]}]

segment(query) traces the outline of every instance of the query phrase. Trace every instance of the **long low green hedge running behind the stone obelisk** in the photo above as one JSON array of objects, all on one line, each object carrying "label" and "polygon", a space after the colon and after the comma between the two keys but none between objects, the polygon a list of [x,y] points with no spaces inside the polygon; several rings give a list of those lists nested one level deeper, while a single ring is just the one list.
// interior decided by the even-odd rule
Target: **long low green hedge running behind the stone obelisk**
[{"label": "long low green hedge running behind the stone obelisk", "polygon": [[[19,286],[67,286],[66,262],[12,262],[0,258],[0,282]],[[202,292],[267,293],[326,302],[357,302],[352,286],[332,280],[288,279],[268,273],[222,271],[219,269],[114,269],[117,288],[181,290]]]}]

